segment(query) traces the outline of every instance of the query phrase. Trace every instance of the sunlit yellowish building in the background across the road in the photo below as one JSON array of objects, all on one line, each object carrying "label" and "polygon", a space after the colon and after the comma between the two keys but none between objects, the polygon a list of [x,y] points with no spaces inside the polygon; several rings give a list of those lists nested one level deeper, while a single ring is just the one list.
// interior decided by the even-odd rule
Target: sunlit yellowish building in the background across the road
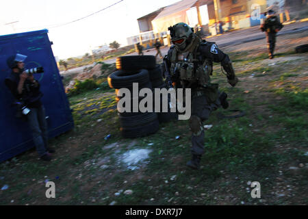
[{"label": "sunlit yellowish building in the background across the road", "polygon": [[[295,0],[297,2],[297,0]],[[294,2],[295,2],[294,1]],[[298,0],[299,1],[299,0]],[[301,3],[303,5],[303,0]],[[190,27],[201,29],[203,36],[216,35],[220,31],[230,31],[260,25],[264,12],[270,5],[276,5],[278,13],[285,12],[288,0],[183,0],[151,14],[138,18],[140,35],[127,38],[128,44],[140,42],[151,47],[152,40],[168,44],[168,27],[179,22],[188,23]],[[305,3],[306,5],[306,3]],[[290,16],[280,15],[281,20]],[[219,29],[219,26],[222,28]],[[170,44],[170,42],[169,42]]]}]

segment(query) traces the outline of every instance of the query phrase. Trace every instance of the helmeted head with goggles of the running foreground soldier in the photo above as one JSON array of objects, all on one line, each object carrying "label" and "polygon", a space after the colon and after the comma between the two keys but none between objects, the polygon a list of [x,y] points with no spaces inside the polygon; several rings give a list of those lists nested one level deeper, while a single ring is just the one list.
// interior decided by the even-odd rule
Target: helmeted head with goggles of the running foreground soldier
[{"label": "helmeted head with goggles of the running foreground soldier", "polygon": [[183,51],[192,42],[194,30],[185,23],[177,23],[168,27],[172,44],[175,44],[179,50]]}]

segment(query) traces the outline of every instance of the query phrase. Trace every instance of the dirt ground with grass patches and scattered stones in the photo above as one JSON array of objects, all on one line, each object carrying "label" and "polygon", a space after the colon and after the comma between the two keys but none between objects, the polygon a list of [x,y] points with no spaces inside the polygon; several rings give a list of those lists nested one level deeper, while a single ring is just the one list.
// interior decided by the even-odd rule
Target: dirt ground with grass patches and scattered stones
[{"label": "dirt ground with grass patches and scattered stones", "polygon": [[[231,88],[220,65],[213,80],[228,93],[230,108],[246,116],[219,120],[215,112],[205,121],[213,127],[205,132],[199,172],[185,168],[187,121],[123,139],[114,92],[93,91],[70,98],[75,129],[50,141],[57,150],[51,163],[33,150],[0,164],[0,187],[8,185],[0,204],[307,205],[308,55],[294,53],[307,42],[307,32],[279,36],[273,60],[266,40],[222,49],[240,82]],[[57,185],[56,198],[44,196],[46,180]],[[261,183],[261,198],[250,196],[253,181]]]}]

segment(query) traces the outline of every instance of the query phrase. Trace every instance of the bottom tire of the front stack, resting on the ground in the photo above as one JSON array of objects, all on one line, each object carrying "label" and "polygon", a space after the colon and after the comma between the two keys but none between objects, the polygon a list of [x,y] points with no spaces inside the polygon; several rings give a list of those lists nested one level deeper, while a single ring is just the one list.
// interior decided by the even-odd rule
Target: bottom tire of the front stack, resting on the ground
[{"label": "bottom tire of the front stack, resting on the ground", "polygon": [[123,138],[139,138],[156,133],[158,129],[159,129],[159,121],[155,119],[151,123],[148,123],[140,127],[134,127],[130,129],[121,127],[120,131]]}]

